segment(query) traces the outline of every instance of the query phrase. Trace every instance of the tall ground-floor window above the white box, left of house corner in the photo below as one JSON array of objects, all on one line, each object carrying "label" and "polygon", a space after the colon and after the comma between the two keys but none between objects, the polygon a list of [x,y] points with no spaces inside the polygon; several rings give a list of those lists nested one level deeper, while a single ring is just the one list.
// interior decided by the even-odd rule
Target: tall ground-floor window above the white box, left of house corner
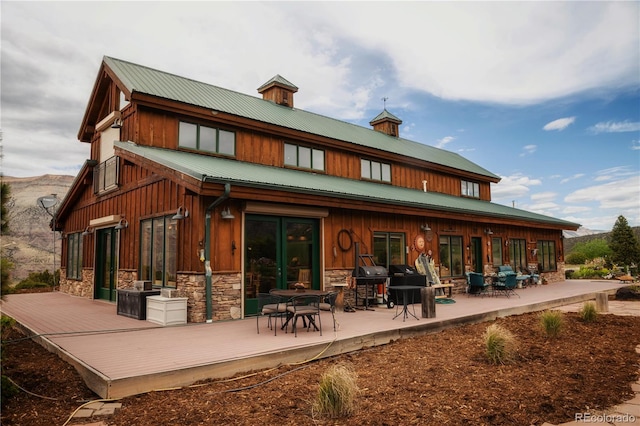
[{"label": "tall ground-floor window above the white box, left of house corner", "polygon": [[177,225],[171,216],[144,220],[140,228],[140,279],[176,287]]}]

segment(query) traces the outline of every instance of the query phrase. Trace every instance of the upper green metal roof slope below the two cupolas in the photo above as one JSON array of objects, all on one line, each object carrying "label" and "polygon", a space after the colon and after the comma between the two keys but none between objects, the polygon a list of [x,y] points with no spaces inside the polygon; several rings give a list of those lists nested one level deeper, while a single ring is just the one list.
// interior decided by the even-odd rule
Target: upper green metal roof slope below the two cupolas
[{"label": "upper green metal roof slope below the two cupolas", "polygon": [[[408,139],[396,138],[370,128],[304,110],[277,105],[255,96],[158,71],[105,56],[104,63],[130,93],[138,92],[203,108],[210,108],[276,126],[350,142],[405,157],[485,176],[500,177],[461,155]],[[295,87],[295,86],[294,86]]]}]

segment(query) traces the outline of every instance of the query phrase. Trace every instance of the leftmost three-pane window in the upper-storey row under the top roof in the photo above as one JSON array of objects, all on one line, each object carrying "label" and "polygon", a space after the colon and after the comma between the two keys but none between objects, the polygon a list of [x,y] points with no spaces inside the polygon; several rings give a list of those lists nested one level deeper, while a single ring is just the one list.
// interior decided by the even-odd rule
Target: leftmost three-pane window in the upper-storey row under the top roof
[{"label": "leftmost three-pane window in the upper-storey row under the top roof", "polygon": [[236,134],[227,130],[181,121],[178,130],[178,146],[234,156],[236,154]]}]

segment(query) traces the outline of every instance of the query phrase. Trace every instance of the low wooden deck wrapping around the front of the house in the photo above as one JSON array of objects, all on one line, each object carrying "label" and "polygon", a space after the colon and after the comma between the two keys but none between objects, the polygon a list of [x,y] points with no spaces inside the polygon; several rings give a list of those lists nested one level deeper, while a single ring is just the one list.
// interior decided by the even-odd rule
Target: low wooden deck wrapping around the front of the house
[{"label": "low wooden deck wrapping around the front of the house", "polygon": [[[520,298],[457,295],[453,304],[437,304],[436,318],[392,319],[386,307],[354,313],[322,313],[323,335],[299,331],[298,337],[266,327],[256,318],[162,327],[119,316],[113,303],[63,293],[8,295],[1,311],[34,339],[71,363],[89,388],[102,398],[118,398],[152,390],[185,386],[198,380],[386,344],[496,317],[540,311],[614,293],[617,281],[565,281],[517,290]],[[410,307],[411,309],[411,307]],[[420,317],[420,305],[415,305]]]}]

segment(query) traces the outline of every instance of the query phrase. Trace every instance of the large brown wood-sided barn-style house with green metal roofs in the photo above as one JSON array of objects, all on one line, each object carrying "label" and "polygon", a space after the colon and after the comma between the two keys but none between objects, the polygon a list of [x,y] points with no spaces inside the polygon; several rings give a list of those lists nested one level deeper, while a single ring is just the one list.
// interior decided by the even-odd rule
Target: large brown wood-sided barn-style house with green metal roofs
[{"label": "large brown wood-sided barn-style house with green metal roofs", "polygon": [[91,145],[55,218],[61,291],[115,300],[135,281],[186,297],[188,320],[241,318],[258,292],[331,288],[355,267],[433,256],[463,291],[500,265],[563,275],[578,224],[491,202],[499,177],[401,137],[295,108],[282,76],[249,96],[105,57],[78,139]]}]

